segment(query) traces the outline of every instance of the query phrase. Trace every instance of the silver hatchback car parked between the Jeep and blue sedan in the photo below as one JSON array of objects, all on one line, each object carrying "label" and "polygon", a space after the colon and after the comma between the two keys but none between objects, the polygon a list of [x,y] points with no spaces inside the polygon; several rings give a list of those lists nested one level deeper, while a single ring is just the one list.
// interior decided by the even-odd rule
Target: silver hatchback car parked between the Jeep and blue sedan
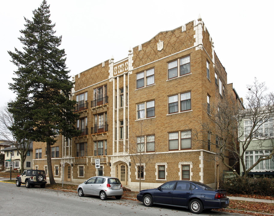
[{"label": "silver hatchback car parked between the Jeep and blue sedan", "polygon": [[111,176],[94,176],[78,185],[78,195],[84,196],[95,195],[105,200],[107,196],[115,196],[121,199],[123,194],[123,186],[118,178]]}]

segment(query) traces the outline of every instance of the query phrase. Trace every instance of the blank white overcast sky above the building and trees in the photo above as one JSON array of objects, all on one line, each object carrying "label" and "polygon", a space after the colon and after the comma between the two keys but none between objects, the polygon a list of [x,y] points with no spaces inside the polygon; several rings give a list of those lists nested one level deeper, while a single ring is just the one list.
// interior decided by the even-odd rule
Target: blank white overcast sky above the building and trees
[{"label": "blank white overcast sky above the building and trees", "polygon": [[[1,1],[1,103],[15,95],[8,89],[16,66],[7,50],[22,49],[19,30],[24,16],[42,0]],[[50,19],[56,23],[56,36],[62,35],[61,48],[67,54],[70,76],[114,56],[114,62],[128,56],[129,47],[149,41],[162,31],[176,29],[199,14],[213,39],[215,52],[240,97],[254,78],[274,91],[273,33],[274,1],[184,1],[184,0],[47,0]]]}]

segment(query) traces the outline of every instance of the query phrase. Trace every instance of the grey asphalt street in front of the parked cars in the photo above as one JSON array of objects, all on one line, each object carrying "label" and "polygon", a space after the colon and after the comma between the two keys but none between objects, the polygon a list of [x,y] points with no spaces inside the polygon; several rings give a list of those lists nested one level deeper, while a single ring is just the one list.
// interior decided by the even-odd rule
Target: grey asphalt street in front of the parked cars
[{"label": "grey asphalt street in front of the parked cars", "polygon": [[[155,205],[147,208],[141,202],[96,196],[79,197],[77,193],[0,182],[0,214],[6,215],[196,215],[185,208]],[[243,214],[207,211],[199,215],[243,216]],[[246,214],[245,214],[246,215]]]}]

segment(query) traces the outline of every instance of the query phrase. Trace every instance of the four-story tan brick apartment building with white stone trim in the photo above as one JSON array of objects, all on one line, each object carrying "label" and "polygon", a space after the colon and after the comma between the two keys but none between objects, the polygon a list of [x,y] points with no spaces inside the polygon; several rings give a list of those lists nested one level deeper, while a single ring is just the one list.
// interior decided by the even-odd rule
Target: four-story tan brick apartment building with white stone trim
[{"label": "four-story tan brick apartment building with white stone trim", "polygon": [[[201,141],[216,137],[194,133],[207,122],[210,104],[227,94],[227,73],[200,16],[198,23],[160,32],[130,49],[127,58],[112,57],[73,78],[82,134],[72,140],[57,136],[50,152],[56,180],[64,169],[64,181],[79,183],[104,175],[130,188],[139,187],[139,178],[142,188],[174,179],[216,187],[227,168],[213,160],[215,146]],[[47,171],[46,144],[33,146],[33,167]],[[153,157],[133,163],[127,147]]]}]

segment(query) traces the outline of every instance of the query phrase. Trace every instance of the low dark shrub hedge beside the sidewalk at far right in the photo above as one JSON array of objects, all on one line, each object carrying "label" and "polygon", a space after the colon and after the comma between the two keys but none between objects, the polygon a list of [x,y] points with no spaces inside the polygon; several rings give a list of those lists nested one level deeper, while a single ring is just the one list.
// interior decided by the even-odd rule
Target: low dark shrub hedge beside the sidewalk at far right
[{"label": "low dark shrub hedge beside the sidewalk at far right", "polygon": [[274,179],[273,178],[257,178],[254,182],[250,178],[236,178],[227,181],[221,181],[219,188],[226,189],[229,194],[246,194],[246,195],[262,195],[273,196]]}]

